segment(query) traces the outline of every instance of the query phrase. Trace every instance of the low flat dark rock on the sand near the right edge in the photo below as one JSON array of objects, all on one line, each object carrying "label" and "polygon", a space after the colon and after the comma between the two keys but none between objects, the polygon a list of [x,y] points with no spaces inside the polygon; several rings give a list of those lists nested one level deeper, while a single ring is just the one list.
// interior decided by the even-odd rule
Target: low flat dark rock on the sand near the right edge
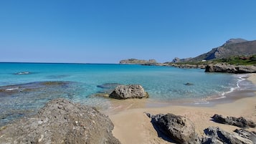
[{"label": "low flat dark rock on the sand near the right edge", "polygon": [[251,120],[246,120],[244,117],[223,117],[222,115],[215,114],[212,119],[214,122],[234,125],[240,128],[255,128],[256,124]]}]

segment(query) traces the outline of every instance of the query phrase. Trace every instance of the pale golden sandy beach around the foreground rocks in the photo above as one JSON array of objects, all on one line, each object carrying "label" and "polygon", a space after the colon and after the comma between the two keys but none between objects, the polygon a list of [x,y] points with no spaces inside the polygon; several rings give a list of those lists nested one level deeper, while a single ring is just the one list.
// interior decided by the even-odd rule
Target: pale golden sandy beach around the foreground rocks
[{"label": "pale golden sandy beach around the foreground rocks", "polygon": [[[247,80],[256,85],[256,74],[250,74]],[[256,95],[256,93],[255,93]],[[115,128],[113,135],[123,144],[136,143],[170,143],[163,138],[158,137],[156,130],[151,124],[151,119],[144,112],[153,115],[159,113],[173,113],[188,117],[195,125],[196,133],[202,135],[204,129],[209,126],[218,126],[223,130],[233,133],[237,127],[232,125],[223,125],[214,123],[212,116],[214,114],[234,117],[245,117],[256,122],[256,98],[244,97],[231,102],[222,102],[211,107],[205,106],[184,106],[171,105],[165,107],[146,107],[147,100],[125,100],[123,102],[113,102],[113,107],[117,107],[117,112],[107,112],[113,121]],[[123,106],[125,105],[125,106]],[[248,130],[256,131],[256,128]]]}]

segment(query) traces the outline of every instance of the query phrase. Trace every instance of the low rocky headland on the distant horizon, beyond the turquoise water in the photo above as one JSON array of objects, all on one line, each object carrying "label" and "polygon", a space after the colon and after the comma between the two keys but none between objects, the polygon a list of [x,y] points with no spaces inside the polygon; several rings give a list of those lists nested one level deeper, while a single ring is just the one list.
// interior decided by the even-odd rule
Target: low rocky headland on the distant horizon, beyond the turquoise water
[{"label": "low rocky headland on the distant horizon, beyond the turquoise water", "polygon": [[143,64],[143,65],[156,65],[158,62],[156,62],[155,59],[123,59],[120,60],[119,64]]}]

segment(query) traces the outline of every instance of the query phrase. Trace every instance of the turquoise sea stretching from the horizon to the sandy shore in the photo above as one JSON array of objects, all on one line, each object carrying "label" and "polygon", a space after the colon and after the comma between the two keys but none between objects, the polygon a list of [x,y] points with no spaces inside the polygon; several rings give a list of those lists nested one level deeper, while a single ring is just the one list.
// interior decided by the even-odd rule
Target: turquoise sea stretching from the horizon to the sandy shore
[{"label": "turquoise sea stretching from the horizon to the sandy shore", "polygon": [[142,85],[151,102],[207,105],[232,92],[254,92],[246,77],[136,64],[0,63],[0,126],[37,112],[57,97],[108,109],[111,99],[97,94],[120,84]]}]

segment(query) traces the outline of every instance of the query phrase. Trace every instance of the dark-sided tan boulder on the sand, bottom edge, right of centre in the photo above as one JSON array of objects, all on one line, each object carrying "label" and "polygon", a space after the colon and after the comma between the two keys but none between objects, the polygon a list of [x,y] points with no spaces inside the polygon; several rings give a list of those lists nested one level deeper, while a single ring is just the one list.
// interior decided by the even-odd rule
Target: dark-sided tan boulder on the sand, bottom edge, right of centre
[{"label": "dark-sided tan boulder on the sand, bottom edge, right of centre", "polygon": [[195,132],[194,123],[186,117],[168,113],[166,115],[151,115],[151,123],[155,125],[162,133],[171,138],[177,143],[200,143],[199,138]]}]

